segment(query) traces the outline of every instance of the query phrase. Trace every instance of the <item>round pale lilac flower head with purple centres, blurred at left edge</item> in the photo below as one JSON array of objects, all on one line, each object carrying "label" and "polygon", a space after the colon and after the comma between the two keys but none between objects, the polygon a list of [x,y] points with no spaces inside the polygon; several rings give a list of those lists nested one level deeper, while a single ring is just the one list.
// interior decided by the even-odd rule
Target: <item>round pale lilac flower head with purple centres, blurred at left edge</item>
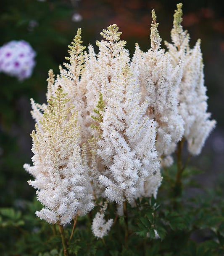
[{"label": "round pale lilac flower head with purple centres, blurred at left edge", "polygon": [[36,52],[24,40],[10,41],[0,47],[0,72],[23,81],[32,75]]}]

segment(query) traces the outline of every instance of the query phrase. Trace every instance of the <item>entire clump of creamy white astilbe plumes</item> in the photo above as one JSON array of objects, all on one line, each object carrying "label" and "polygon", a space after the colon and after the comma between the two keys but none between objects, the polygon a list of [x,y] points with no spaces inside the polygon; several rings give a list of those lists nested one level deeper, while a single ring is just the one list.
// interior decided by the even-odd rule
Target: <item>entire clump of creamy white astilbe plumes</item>
[{"label": "entire clump of creamy white astilbe plumes", "polygon": [[[24,167],[44,205],[40,218],[66,224],[100,200],[116,202],[122,214],[124,202],[156,197],[161,165],[171,164],[177,143],[185,137],[198,154],[213,129],[199,43],[192,50],[185,45],[174,15],[174,45],[166,52],[154,11],[152,18],[151,48],[136,45],[132,58],[116,24],[101,33],[98,54],[91,45],[84,52],[79,29],[69,63],[56,77],[49,71],[47,105],[32,100],[34,165]],[[104,219],[106,206],[92,224],[101,238],[113,223]]]}]

